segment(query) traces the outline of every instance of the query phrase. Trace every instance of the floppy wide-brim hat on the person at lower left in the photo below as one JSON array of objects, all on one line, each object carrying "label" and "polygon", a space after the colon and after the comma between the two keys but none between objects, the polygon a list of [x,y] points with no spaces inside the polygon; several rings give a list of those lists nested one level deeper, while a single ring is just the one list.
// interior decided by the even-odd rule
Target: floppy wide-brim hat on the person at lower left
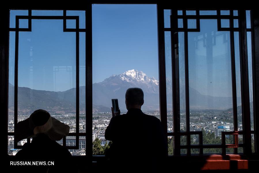
[{"label": "floppy wide-brim hat on the person at lower left", "polygon": [[64,135],[68,135],[69,126],[50,116],[48,111],[39,109],[26,120],[18,122],[15,131],[17,141],[36,137],[39,133],[45,133],[50,139],[59,141]]}]

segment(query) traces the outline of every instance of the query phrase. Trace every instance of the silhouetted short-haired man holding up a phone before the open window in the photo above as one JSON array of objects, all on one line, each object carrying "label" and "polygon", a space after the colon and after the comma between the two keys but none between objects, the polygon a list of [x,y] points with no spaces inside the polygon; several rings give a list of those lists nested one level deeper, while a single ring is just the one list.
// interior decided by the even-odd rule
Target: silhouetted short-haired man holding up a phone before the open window
[{"label": "silhouetted short-haired man holding up a phone before the open window", "polygon": [[114,114],[105,130],[105,139],[112,141],[107,157],[110,171],[159,172],[167,151],[167,139],[158,118],[144,114],[141,106],[144,93],[129,88],[125,94],[126,114]]}]

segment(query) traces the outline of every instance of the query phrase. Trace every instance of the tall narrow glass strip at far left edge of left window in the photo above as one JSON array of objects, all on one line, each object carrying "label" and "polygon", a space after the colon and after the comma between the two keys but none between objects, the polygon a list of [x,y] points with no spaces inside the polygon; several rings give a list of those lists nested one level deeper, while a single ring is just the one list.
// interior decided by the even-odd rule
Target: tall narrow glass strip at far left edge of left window
[{"label": "tall narrow glass strip at far left edge of left window", "polygon": [[14,56],[15,32],[9,32],[8,132],[14,132]]}]

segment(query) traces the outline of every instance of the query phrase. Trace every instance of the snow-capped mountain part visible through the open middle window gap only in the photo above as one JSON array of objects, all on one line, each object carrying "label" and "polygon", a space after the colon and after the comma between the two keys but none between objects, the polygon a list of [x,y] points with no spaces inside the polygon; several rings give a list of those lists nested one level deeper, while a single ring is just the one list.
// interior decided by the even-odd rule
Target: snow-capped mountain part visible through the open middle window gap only
[{"label": "snow-capped mountain part visible through the open middle window gap only", "polygon": [[93,84],[93,104],[110,106],[111,98],[118,98],[121,110],[126,110],[125,93],[128,88],[138,87],[144,92],[144,109],[159,109],[159,81],[144,72],[128,70],[111,75],[102,82]]}]

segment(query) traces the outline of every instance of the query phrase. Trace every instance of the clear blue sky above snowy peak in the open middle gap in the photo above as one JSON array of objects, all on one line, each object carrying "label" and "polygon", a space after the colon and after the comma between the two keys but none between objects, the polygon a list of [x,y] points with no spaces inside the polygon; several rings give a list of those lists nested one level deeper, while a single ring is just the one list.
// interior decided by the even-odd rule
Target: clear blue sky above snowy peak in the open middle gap
[{"label": "clear blue sky above snowy peak in the open middle gap", "polygon": [[92,6],[93,83],[137,69],[158,79],[156,5]]}]

